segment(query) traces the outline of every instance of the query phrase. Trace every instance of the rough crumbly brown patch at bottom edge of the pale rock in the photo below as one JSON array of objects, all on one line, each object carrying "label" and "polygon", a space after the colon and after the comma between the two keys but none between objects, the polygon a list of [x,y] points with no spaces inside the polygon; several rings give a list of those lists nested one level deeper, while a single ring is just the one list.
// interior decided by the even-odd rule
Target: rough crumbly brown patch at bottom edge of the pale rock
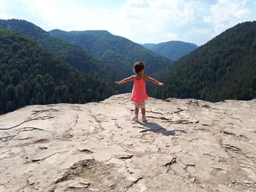
[{"label": "rough crumbly brown patch at bottom edge of the pale rock", "polygon": [[58,188],[58,183],[81,178],[89,182],[86,188],[67,188],[66,191],[126,191],[131,182],[127,180],[113,164],[103,164],[88,159],[78,161],[67,169],[63,177],[56,180],[54,185]]}]

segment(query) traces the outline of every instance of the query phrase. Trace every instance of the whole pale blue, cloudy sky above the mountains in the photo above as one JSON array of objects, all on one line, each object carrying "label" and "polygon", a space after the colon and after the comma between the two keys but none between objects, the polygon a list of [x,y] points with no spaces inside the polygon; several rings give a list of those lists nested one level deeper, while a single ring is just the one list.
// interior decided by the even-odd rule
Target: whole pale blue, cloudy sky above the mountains
[{"label": "whole pale blue, cloudy sky above the mountains", "polygon": [[256,20],[256,0],[0,0],[0,18],[28,20],[45,31],[107,30],[141,44],[203,45]]}]

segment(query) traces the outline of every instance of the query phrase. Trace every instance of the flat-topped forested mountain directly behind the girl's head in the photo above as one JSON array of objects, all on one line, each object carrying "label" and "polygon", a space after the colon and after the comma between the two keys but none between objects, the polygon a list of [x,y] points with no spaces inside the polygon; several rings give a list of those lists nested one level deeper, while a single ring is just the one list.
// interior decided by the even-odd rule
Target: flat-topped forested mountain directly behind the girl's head
[{"label": "flat-topped forested mountain directly behind the girl's head", "polygon": [[135,61],[143,61],[146,64],[147,74],[157,72],[171,64],[167,58],[153,53],[129,39],[110,34],[108,31],[67,32],[56,29],[49,33],[82,47],[106,64],[121,69],[127,75],[132,74],[132,64]]}]

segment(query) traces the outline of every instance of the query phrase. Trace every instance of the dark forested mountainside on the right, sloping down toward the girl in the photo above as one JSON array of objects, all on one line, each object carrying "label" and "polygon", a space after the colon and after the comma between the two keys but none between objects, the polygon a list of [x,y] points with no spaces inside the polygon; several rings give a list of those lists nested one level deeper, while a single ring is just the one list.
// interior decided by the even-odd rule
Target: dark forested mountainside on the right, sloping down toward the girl
[{"label": "dark forested mountainside on the right, sloping down toward the girl", "polygon": [[256,21],[240,23],[159,73],[159,98],[256,98]]}]

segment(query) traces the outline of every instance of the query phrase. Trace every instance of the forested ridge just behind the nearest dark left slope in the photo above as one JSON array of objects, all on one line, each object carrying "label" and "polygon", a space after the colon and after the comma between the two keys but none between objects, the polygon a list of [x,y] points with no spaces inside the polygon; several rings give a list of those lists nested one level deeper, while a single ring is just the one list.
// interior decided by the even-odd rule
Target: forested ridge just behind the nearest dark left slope
[{"label": "forested ridge just behind the nearest dark left slope", "polygon": [[[94,75],[110,85],[113,85],[113,81],[123,76],[118,70],[113,69],[113,67],[107,64],[103,64],[102,61],[86,53],[82,48],[72,45],[72,43],[63,39],[53,37],[47,31],[26,20],[0,20],[0,27],[16,31],[20,34],[26,34],[46,50],[66,61],[69,65],[74,66],[80,71]],[[117,88],[116,85],[113,86]]]}]

